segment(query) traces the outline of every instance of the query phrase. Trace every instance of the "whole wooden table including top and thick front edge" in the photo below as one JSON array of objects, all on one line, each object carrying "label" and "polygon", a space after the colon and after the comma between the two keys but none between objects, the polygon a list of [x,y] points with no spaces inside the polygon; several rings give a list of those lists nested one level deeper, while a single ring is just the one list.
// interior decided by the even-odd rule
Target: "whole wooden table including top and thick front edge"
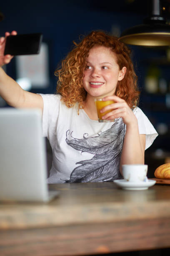
[{"label": "whole wooden table including top and thick front edge", "polygon": [[0,204],[0,256],[88,255],[170,247],[170,185],[51,184],[47,204]]}]

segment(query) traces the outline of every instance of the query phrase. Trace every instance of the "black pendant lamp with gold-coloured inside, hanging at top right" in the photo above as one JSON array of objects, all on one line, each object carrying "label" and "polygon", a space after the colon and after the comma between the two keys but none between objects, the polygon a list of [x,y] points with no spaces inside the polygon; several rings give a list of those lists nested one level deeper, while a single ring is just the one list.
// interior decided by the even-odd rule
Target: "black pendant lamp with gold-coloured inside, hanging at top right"
[{"label": "black pendant lamp with gold-coloured inside, hanging at top right", "polygon": [[162,16],[160,0],[150,0],[149,17],[143,23],[123,31],[120,41],[140,46],[170,46],[170,25]]}]

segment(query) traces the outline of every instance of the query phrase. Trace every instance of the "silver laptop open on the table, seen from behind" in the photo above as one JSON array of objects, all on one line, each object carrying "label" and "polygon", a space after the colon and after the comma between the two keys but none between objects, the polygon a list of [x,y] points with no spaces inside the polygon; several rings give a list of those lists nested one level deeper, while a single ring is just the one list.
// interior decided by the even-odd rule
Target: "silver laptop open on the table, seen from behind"
[{"label": "silver laptop open on the table, seen from behind", "polygon": [[37,109],[0,108],[0,201],[49,202],[45,138]]}]

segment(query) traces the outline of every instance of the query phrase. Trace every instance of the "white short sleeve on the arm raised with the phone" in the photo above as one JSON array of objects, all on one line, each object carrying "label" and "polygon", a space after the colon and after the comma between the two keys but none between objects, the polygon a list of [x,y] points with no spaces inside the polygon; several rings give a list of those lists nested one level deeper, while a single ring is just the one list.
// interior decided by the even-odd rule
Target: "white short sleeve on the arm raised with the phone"
[{"label": "white short sleeve on the arm raised with the phone", "polygon": [[49,133],[56,127],[56,120],[60,105],[60,95],[40,94],[43,99],[42,135],[49,138]]}]

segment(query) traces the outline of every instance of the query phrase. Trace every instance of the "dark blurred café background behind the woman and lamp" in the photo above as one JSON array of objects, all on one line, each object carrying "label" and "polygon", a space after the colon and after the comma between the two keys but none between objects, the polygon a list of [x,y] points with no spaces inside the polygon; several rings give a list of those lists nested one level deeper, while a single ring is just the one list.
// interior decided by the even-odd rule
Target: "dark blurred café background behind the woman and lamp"
[{"label": "dark blurred caf\u00e9 background behind the woman and lamp", "polygon": [[[163,0],[163,15],[170,24],[170,0]],[[25,89],[55,93],[55,69],[72,49],[72,41],[92,30],[120,36],[127,28],[140,25],[148,16],[148,0],[8,0],[0,3],[0,36],[5,31],[18,34],[42,33],[39,55],[16,56],[4,67],[8,75]],[[132,46],[133,63],[141,90],[140,105],[159,133],[145,151],[148,177],[170,162],[170,46]],[[0,108],[8,107],[0,98]]]}]

